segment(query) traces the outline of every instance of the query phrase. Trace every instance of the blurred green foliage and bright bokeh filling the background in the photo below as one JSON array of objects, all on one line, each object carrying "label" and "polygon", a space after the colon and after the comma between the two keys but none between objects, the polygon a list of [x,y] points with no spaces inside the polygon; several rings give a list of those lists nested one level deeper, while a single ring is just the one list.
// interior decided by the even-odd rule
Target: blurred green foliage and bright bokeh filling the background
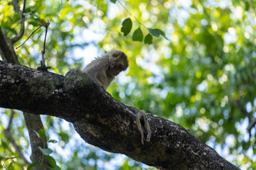
[{"label": "blurred green foliage and bright bokeh filling the background", "polygon": [[[0,1],[0,24],[11,38],[18,33],[19,26],[14,27],[20,21],[9,2]],[[255,125],[247,132],[256,117],[255,7],[256,1],[248,0],[30,0],[25,35],[16,47],[43,19],[51,21],[46,41],[51,72],[65,74],[85,67],[85,61],[91,60],[87,47],[95,47],[99,54],[123,50],[129,56],[129,69],[108,89],[114,98],[190,129],[240,169],[255,169]],[[132,23],[121,30],[126,18]],[[138,28],[141,32],[135,36]],[[44,29],[16,50],[21,64],[39,66]],[[0,168],[24,169],[2,133],[9,115],[9,110],[1,110]],[[48,116],[43,120],[49,139],[58,141],[49,146],[61,169],[146,167],[85,144],[64,120]],[[19,112],[11,132],[29,157],[28,132]],[[10,157],[16,157],[15,162]]]}]

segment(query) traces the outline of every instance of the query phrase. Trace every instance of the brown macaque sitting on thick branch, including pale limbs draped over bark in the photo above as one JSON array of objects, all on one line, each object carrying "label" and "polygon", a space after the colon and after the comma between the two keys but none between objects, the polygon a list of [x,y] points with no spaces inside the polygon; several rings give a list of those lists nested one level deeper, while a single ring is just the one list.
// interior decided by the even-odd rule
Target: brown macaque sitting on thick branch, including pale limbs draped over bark
[{"label": "brown macaque sitting on thick branch, including pale limbs draped over bark", "polygon": [[[85,72],[96,84],[99,84],[103,89],[107,90],[110,83],[120,72],[127,69],[129,66],[129,60],[124,52],[119,50],[113,50],[112,52],[103,55],[102,57],[97,57],[90,64],[82,70]],[[151,130],[149,126],[149,121],[146,117],[144,111],[140,111],[138,108],[128,106],[132,109],[133,113],[136,115],[136,123],[139,132],[142,135],[142,144],[144,145],[144,132],[142,130],[142,124],[140,119],[144,118],[144,127],[147,130],[146,141],[150,141]]]}]

